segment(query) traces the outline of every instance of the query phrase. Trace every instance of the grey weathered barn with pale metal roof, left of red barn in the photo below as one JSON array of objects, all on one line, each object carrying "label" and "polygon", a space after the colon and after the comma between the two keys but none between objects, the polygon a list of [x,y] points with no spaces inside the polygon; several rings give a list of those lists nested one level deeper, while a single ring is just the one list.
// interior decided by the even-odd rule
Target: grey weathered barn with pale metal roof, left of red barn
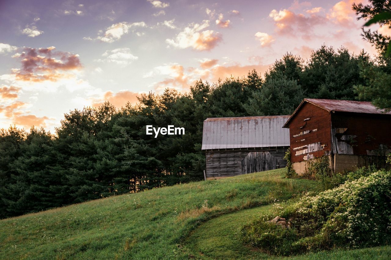
[{"label": "grey weathered barn with pale metal roof, left of red barn", "polygon": [[289,116],[208,118],[204,121],[202,150],[206,178],[254,173],[285,167],[289,148]]}]

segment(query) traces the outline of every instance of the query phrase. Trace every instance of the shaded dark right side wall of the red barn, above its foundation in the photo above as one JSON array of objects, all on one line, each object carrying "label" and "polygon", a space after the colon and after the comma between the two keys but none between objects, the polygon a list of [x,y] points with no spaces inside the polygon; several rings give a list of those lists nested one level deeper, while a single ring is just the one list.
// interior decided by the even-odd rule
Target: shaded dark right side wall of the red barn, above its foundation
[{"label": "shaded dark right side wall of the red barn, above its foundation", "polygon": [[332,113],[335,154],[386,156],[391,148],[391,115]]}]

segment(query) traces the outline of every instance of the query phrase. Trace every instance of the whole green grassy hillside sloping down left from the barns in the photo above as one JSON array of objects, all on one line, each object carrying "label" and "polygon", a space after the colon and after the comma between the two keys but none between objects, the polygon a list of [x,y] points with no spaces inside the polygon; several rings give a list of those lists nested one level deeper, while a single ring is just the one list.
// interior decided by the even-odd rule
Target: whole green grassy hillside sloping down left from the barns
[{"label": "whole green grassy hillside sloping down left from the barns", "polygon": [[[285,179],[284,171],[164,187],[4,219],[0,258],[266,258],[243,246],[237,231],[269,210],[269,204],[321,189],[314,181]],[[391,256],[388,247],[362,250],[301,257]]]}]

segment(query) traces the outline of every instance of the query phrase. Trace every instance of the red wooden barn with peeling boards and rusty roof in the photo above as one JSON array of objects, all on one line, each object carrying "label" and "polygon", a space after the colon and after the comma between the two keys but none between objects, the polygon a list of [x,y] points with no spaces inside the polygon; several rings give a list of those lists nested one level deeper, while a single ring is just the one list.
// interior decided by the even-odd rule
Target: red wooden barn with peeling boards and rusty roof
[{"label": "red wooden barn with peeling boards and rusty roof", "polygon": [[370,102],[304,99],[283,127],[289,128],[292,166],[299,175],[323,155],[337,173],[384,166],[391,151],[391,112]]}]

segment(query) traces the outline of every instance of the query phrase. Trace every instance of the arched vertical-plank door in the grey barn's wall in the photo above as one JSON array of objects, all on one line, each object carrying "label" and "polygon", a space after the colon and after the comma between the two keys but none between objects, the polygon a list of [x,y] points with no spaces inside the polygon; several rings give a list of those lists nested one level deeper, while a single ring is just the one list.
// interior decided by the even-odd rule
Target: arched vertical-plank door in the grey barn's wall
[{"label": "arched vertical-plank door in the grey barn's wall", "polygon": [[242,160],[242,174],[276,169],[277,161],[277,158],[268,151],[249,152]]}]

